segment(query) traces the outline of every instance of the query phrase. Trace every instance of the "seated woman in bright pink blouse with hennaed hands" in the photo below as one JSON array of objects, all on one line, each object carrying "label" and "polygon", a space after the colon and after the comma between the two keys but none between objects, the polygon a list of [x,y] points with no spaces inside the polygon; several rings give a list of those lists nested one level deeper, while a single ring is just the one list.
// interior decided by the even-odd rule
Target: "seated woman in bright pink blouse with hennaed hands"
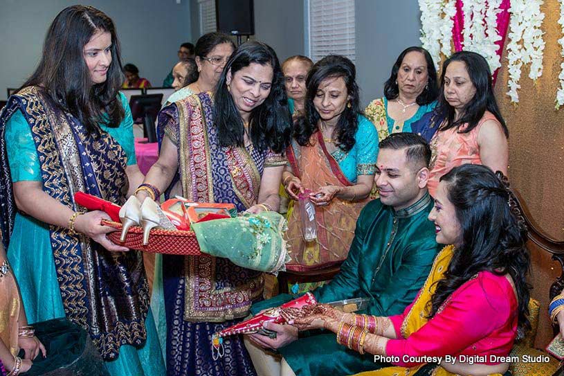
[{"label": "seated woman in bright pink blouse with hennaed hands", "polygon": [[437,242],[452,245],[403,314],[322,305],[322,314],[293,324],[329,329],[338,343],[389,365],[359,376],[510,375],[513,342],[530,328],[527,229],[515,198],[489,168],[464,164],[441,178],[429,220]]}]

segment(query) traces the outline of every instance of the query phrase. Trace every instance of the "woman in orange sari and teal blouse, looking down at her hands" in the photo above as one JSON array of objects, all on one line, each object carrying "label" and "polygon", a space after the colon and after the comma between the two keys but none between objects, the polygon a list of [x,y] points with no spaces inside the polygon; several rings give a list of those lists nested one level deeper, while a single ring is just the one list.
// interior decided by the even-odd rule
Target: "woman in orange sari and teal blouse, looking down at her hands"
[{"label": "woman in orange sari and teal blouse, looking down at her hands", "polygon": [[356,219],[374,181],[378,134],[361,114],[356,69],[347,57],[329,55],[307,76],[304,115],[295,121],[282,176],[297,200],[309,192],[316,206],[317,239],[304,241],[302,218],[293,210],[287,240],[292,271],[320,269],[347,258]]}]

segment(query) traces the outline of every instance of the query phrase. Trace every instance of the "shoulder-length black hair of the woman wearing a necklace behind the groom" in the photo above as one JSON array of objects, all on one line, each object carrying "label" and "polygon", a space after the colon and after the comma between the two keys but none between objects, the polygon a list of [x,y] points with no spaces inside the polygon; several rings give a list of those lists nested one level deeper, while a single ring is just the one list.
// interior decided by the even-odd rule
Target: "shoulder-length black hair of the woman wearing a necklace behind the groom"
[{"label": "shoulder-length black hair of the woman wearing a necklace behind the groom", "polygon": [[399,56],[397,57],[396,62],[392,66],[392,73],[390,74],[390,78],[384,84],[384,96],[388,100],[396,99],[399,96],[399,86],[397,84],[397,73],[399,72],[399,68],[401,67],[401,63],[403,62],[403,58],[410,52],[419,52],[422,53],[425,57],[425,61],[427,63],[427,84],[421,94],[417,96],[415,100],[417,105],[428,105],[430,102],[433,102],[439,96],[439,85],[437,84],[437,71],[435,71],[435,63],[433,62],[433,57],[431,57],[429,51],[427,51],[423,47],[418,46],[411,46],[406,48],[405,50],[401,51]]}]

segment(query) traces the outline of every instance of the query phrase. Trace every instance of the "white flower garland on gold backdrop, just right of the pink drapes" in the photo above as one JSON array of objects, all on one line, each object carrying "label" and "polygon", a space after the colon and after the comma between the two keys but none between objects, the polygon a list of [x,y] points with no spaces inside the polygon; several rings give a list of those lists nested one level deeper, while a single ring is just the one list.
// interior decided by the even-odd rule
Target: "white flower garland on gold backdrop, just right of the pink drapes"
[{"label": "white flower garland on gold backdrop, just right of the pink drapes", "polygon": [[507,60],[509,60],[507,95],[511,97],[511,102],[519,102],[517,89],[520,89],[519,80],[523,64],[531,64],[529,71],[531,80],[536,80],[543,74],[545,41],[540,26],[543,25],[545,14],[540,12],[542,5],[543,0],[511,0],[507,44]]}]

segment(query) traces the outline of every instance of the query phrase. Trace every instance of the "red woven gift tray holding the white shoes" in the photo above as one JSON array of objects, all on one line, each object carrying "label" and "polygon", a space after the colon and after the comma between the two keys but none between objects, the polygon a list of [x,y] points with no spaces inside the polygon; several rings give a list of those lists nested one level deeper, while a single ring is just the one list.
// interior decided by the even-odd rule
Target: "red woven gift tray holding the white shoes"
[{"label": "red woven gift tray holding the white shoes", "polygon": [[149,244],[143,245],[143,229],[140,227],[130,227],[129,231],[127,231],[125,242],[120,242],[122,226],[120,222],[103,220],[102,224],[118,230],[107,234],[109,240],[129,249],[181,256],[200,256],[204,254],[201,253],[196,234],[192,231],[152,229],[149,233]]}]

